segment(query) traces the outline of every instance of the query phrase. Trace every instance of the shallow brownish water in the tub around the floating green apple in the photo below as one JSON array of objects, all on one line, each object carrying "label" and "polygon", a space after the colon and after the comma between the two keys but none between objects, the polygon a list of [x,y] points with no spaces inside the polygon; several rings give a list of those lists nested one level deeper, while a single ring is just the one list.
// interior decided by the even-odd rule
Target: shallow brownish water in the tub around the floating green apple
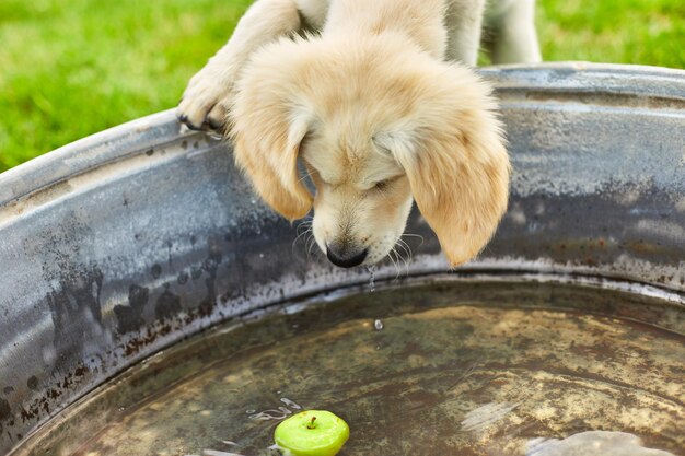
[{"label": "shallow brownish water in the tub around the floating green apple", "polygon": [[306,408],[349,423],[340,456],[678,455],[684,328],[589,288],[379,287],[183,342],[15,455],[277,455],[275,426]]}]

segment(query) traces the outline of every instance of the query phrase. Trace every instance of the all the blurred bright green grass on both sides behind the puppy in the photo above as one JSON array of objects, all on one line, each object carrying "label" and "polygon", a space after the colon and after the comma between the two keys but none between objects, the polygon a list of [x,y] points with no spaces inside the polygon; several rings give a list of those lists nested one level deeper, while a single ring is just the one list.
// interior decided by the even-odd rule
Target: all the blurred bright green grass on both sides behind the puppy
[{"label": "all the blurred bright green grass on both sides behind the puppy", "polygon": [[[1,0],[0,172],[176,105],[249,0]],[[538,0],[545,60],[685,68],[685,0]]]}]

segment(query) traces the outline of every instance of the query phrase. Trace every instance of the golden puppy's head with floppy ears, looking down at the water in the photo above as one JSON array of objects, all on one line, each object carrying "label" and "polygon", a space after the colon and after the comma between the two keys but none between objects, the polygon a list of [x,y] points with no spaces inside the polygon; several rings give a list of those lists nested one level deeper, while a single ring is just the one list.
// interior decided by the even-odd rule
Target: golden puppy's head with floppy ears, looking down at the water
[{"label": "golden puppy's head with floppy ears, looking down at the water", "polygon": [[468,69],[390,34],[282,39],[254,55],[237,89],[236,163],[283,217],[313,204],[314,236],[334,264],[388,255],[413,197],[452,266],[495,232],[509,160],[489,87]]}]

